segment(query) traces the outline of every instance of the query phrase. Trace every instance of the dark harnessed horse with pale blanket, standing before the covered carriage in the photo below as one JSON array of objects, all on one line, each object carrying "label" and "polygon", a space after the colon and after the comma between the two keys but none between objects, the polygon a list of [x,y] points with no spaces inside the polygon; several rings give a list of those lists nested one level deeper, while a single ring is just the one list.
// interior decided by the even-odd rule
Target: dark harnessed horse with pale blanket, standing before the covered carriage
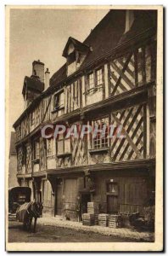
[{"label": "dark harnessed horse with pale blanket, standing before the covered carriage", "polygon": [[28,202],[20,206],[16,212],[16,219],[23,223],[24,230],[31,231],[31,223],[34,218],[33,232],[36,232],[36,220],[42,216],[41,202]]}]

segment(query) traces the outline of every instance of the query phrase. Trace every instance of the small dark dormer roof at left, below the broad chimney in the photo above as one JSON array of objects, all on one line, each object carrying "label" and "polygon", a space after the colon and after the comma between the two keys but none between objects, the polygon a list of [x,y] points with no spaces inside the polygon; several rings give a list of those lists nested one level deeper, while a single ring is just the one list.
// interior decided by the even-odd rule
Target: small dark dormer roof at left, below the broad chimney
[{"label": "small dark dormer roof at left, below the broad chimney", "polygon": [[42,83],[39,79],[35,78],[35,76],[31,76],[31,78],[25,76],[24,86],[22,90],[22,94],[25,96],[25,88],[29,90],[35,90],[40,93],[44,90],[44,83]]}]

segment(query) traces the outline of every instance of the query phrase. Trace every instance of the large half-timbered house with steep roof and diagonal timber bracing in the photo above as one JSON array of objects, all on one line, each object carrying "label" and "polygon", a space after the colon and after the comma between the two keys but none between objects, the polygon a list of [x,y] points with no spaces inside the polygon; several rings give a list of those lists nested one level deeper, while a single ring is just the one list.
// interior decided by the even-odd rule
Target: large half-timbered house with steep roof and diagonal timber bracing
[{"label": "large half-timbered house with steep roof and diagonal timber bracing", "polygon": [[[83,43],[68,39],[51,79],[32,63],[14,123],[17,179],[44,212],[81,220],[88,201],[109,213],[154,203],[156,24],[154,10],[110,10]],[[57,124],[122,125],[125,137],[42,137]]]}]

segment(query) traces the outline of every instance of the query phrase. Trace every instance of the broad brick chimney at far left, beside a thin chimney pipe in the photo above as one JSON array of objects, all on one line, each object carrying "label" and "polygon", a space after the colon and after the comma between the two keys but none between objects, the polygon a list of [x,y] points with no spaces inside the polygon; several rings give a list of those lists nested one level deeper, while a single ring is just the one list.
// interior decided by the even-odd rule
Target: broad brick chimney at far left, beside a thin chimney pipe
[{"label": "broad brick chimney at far left, beside a thin chimney pipe", "polygon": [[32,62],[32,77],[44,83],[44,63],[40,60]]}]

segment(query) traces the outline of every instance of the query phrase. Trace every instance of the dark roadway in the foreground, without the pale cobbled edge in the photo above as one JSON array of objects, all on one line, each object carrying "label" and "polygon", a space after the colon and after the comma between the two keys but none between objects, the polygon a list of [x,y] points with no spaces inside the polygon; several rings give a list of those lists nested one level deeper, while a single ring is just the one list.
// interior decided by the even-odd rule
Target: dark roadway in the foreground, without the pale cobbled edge
[{"label": "dark roadway in the foreground, without the pale cobbled edge", "polygon": [[[89,227],[88,227],[89,228]],[[22,224],[16,221],[8,223],[8,242],[121,242],[133,241],[130,238],[106,236],[86,230],[73,230],[42,223],[37,220],[36,233],[23,230]]]}]

